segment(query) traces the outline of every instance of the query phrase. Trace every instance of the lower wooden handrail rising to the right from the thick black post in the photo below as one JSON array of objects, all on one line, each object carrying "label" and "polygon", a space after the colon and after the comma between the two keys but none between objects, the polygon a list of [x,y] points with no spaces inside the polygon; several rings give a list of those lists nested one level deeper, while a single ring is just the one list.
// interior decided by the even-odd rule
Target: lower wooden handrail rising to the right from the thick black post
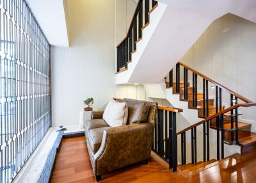
[{"label": "lower wooden handrail rising to the right from the thick black post", "polygon": [[182,134],[183,132],[189,131],[190,129],[193,129],[193,127],[197,127],[198,125],[201,125],[202,123],[208,122],[209,120],[212,120],[213,118],[216,118],[217,116],[220,116],[224,113],[227,113],[228,111],[231,111],[232,109],[236,109],[237,107],[252,107],[256,106],[256,103],[251,102],[251,103],[246,103],[246,104],[236,104],[234,106],[228,107],[227,109],[220,111],[219,113],[216,113],[215,115],[209,116],[208,118],[205,118],[201,122],[195,123],[191,125],[190,127],[183,129],[182,131],[179,131],[176,133],[176,135]]}]

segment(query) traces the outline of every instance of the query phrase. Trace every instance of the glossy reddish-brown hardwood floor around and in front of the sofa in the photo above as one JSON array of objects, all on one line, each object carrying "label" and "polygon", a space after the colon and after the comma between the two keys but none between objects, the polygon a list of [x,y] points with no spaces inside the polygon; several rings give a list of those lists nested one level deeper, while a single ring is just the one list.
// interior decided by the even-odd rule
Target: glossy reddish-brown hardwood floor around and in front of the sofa
[{"label": "glossy reddish-brown hardwood floor around and in front of the sofa", "polygon": [[[100,182],[256,182],[256,153],[234,154],[188,177],[173,174],[153,159],[102,175]],[[84,137],[63,139],[51,182],[96,182]]]}]

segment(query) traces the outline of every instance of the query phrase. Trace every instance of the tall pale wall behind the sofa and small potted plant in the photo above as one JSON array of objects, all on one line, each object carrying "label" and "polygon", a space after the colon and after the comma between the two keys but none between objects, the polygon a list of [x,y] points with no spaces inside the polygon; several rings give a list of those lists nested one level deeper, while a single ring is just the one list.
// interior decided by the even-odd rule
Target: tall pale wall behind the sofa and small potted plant
[{"label": "tall pale wall behind the sofa and small potted plant", "polygon": [[87,97],[95,99],[95,109],[115,97],[115,1],[65,4],[71,44],[52,47],[53,126],[78,125]]}]

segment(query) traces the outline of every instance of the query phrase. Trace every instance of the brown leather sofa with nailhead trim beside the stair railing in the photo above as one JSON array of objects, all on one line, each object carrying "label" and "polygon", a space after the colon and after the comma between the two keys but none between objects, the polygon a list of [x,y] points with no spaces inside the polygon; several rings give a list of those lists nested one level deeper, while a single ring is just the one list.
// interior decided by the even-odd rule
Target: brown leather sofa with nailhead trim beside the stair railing
[{"label": "brown leather sofa with nailhead trim beside the stair railing", "polygon": [[[84,125],[86,145],[96,180],[100,180],[102,174],[129,164],[147,163],[150,157],[157,103],[131,99],[118,101],[127,102],[127,125],[109,127],[102,119],[104,111],[93,111],[92,119],[86,120]],[[134,118],[138,118],[138,113],[143,115],[145,112],[138,111],[138,102],[144,102],[145,106],[149,106],[148,113],[144,116],[145,122],[135,120],[131,123]]]}]

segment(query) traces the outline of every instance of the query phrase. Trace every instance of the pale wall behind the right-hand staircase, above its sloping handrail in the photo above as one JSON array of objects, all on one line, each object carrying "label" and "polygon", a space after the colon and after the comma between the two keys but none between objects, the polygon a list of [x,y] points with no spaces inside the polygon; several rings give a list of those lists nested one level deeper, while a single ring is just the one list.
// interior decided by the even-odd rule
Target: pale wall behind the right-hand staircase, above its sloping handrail
[{"label": "pale wall behind the right-hand staircase, above its sloping handrail", "polygon": [[[255,50],[256,24],[227,14],[215,20],[180,61],[255,102]],[[223,92],[223,96],[225,106],[230,105],[230,95]],[[252,122],[255,131],[256,107],[239,111],[243,113],[240,120]]]}]

